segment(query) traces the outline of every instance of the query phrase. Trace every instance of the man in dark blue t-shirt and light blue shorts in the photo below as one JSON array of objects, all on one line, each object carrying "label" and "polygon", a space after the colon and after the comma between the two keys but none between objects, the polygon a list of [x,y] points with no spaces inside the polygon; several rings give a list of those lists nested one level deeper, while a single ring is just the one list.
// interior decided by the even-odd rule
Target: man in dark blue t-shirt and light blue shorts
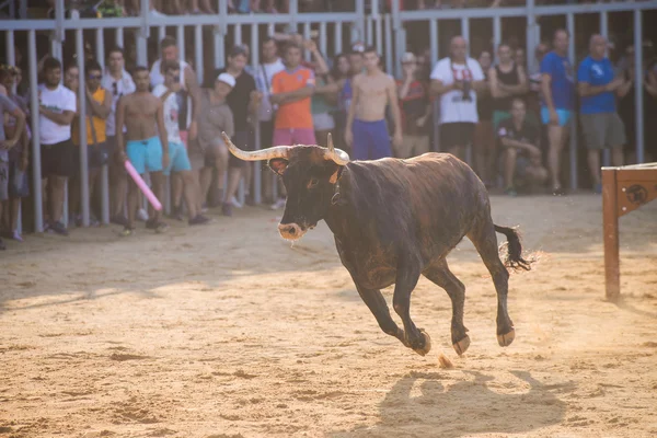
[{"label": "man in dark blue t-shirt and light blue shorts", "polygon": [[561,152],[568,138],[575,103],[575,78],[568,59],[569,39],[567,31],[557,30],[554,33],[554,50],[541,61],[541,119],[548,126],[548,164],[553,195],[565,195],[558,180]]}]

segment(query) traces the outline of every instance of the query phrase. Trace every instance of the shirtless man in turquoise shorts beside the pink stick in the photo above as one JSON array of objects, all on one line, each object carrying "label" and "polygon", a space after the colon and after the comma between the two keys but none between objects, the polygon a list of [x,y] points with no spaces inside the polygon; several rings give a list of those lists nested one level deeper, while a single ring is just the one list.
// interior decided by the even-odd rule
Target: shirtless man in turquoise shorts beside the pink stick
[{"label": "shirtless man in turquoise shorts beside the pink stick", "polygon": [[[164,128],[163,105],[160,99],[148,91],[150,74],[146,67],[137,67],[134,79],[136,91],[120,99],[116,108],[116,143],[124,162],[130,160],[139,174],[150,173],[153,193],[159,199],[162,199],[164,195],[162,170],[169,166],[169,141]],[[126,143],[123,139],[124,124],[126,126]],[[125,149],[124,145],[126,145]],[[124,228],[123,235],[132,234],[138,199],[139,188],[130,178],[128,223]],[[160,220],[160,211],[155,211],[153,217],[146,222],[146,228],[163,232],[168,227]]]}]

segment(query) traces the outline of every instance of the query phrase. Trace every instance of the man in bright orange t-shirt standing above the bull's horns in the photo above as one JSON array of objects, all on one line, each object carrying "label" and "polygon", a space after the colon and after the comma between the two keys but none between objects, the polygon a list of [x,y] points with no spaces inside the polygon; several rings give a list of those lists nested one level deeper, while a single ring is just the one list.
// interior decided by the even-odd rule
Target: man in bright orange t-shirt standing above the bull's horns
[{"label": "man in bright orange t-shirt standing above the bull's horns", "polygon": [[269,102],[278,105],[274,123],[274,146],[315,145],[311,95],[314,73],[302,67],[301,47],[288,43],[284,50],[285,70],[274,74]]}]

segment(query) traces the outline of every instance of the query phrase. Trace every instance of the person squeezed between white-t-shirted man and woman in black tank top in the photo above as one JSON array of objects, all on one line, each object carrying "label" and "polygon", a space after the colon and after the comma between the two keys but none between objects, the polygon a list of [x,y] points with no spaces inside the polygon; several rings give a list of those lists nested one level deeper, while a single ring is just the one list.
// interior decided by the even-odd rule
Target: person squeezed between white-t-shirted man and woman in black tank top
[{"label": "person squeezed between white-t-shirted man and woman in black tank top", "polygon": [[476,112],[479,113],[479,123],[474,128],[474,166],[480,178],[486,187],[494,185],[495,177],[495,161],[496,161],[496,142],[495,132],[491,117],[493,115],[493,100],[491,97],[491,89],[488,74],[486,72],[493,64],[491,53],[484,50],[477,58],[482,71],[484,71],[484,81],[488,87],[484,91],[476,93]]}]

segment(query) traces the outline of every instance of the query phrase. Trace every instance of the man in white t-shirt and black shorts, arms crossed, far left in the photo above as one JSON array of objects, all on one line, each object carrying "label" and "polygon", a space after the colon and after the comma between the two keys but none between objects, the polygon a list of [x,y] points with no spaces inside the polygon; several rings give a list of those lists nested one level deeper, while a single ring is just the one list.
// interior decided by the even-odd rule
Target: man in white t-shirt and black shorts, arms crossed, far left
[{"label": "man in white t-shirt and black shorts, arms crossed, far left", "polygon": [[61,223],[66,180],[76,171],[76,151],[71,143],[71,124],[77,111],[76,94],[61,85],[61,62],[44,61],[45,83],[38,85],[38,113],[42,177],[48,180],[47,229],[68,235]]}]

